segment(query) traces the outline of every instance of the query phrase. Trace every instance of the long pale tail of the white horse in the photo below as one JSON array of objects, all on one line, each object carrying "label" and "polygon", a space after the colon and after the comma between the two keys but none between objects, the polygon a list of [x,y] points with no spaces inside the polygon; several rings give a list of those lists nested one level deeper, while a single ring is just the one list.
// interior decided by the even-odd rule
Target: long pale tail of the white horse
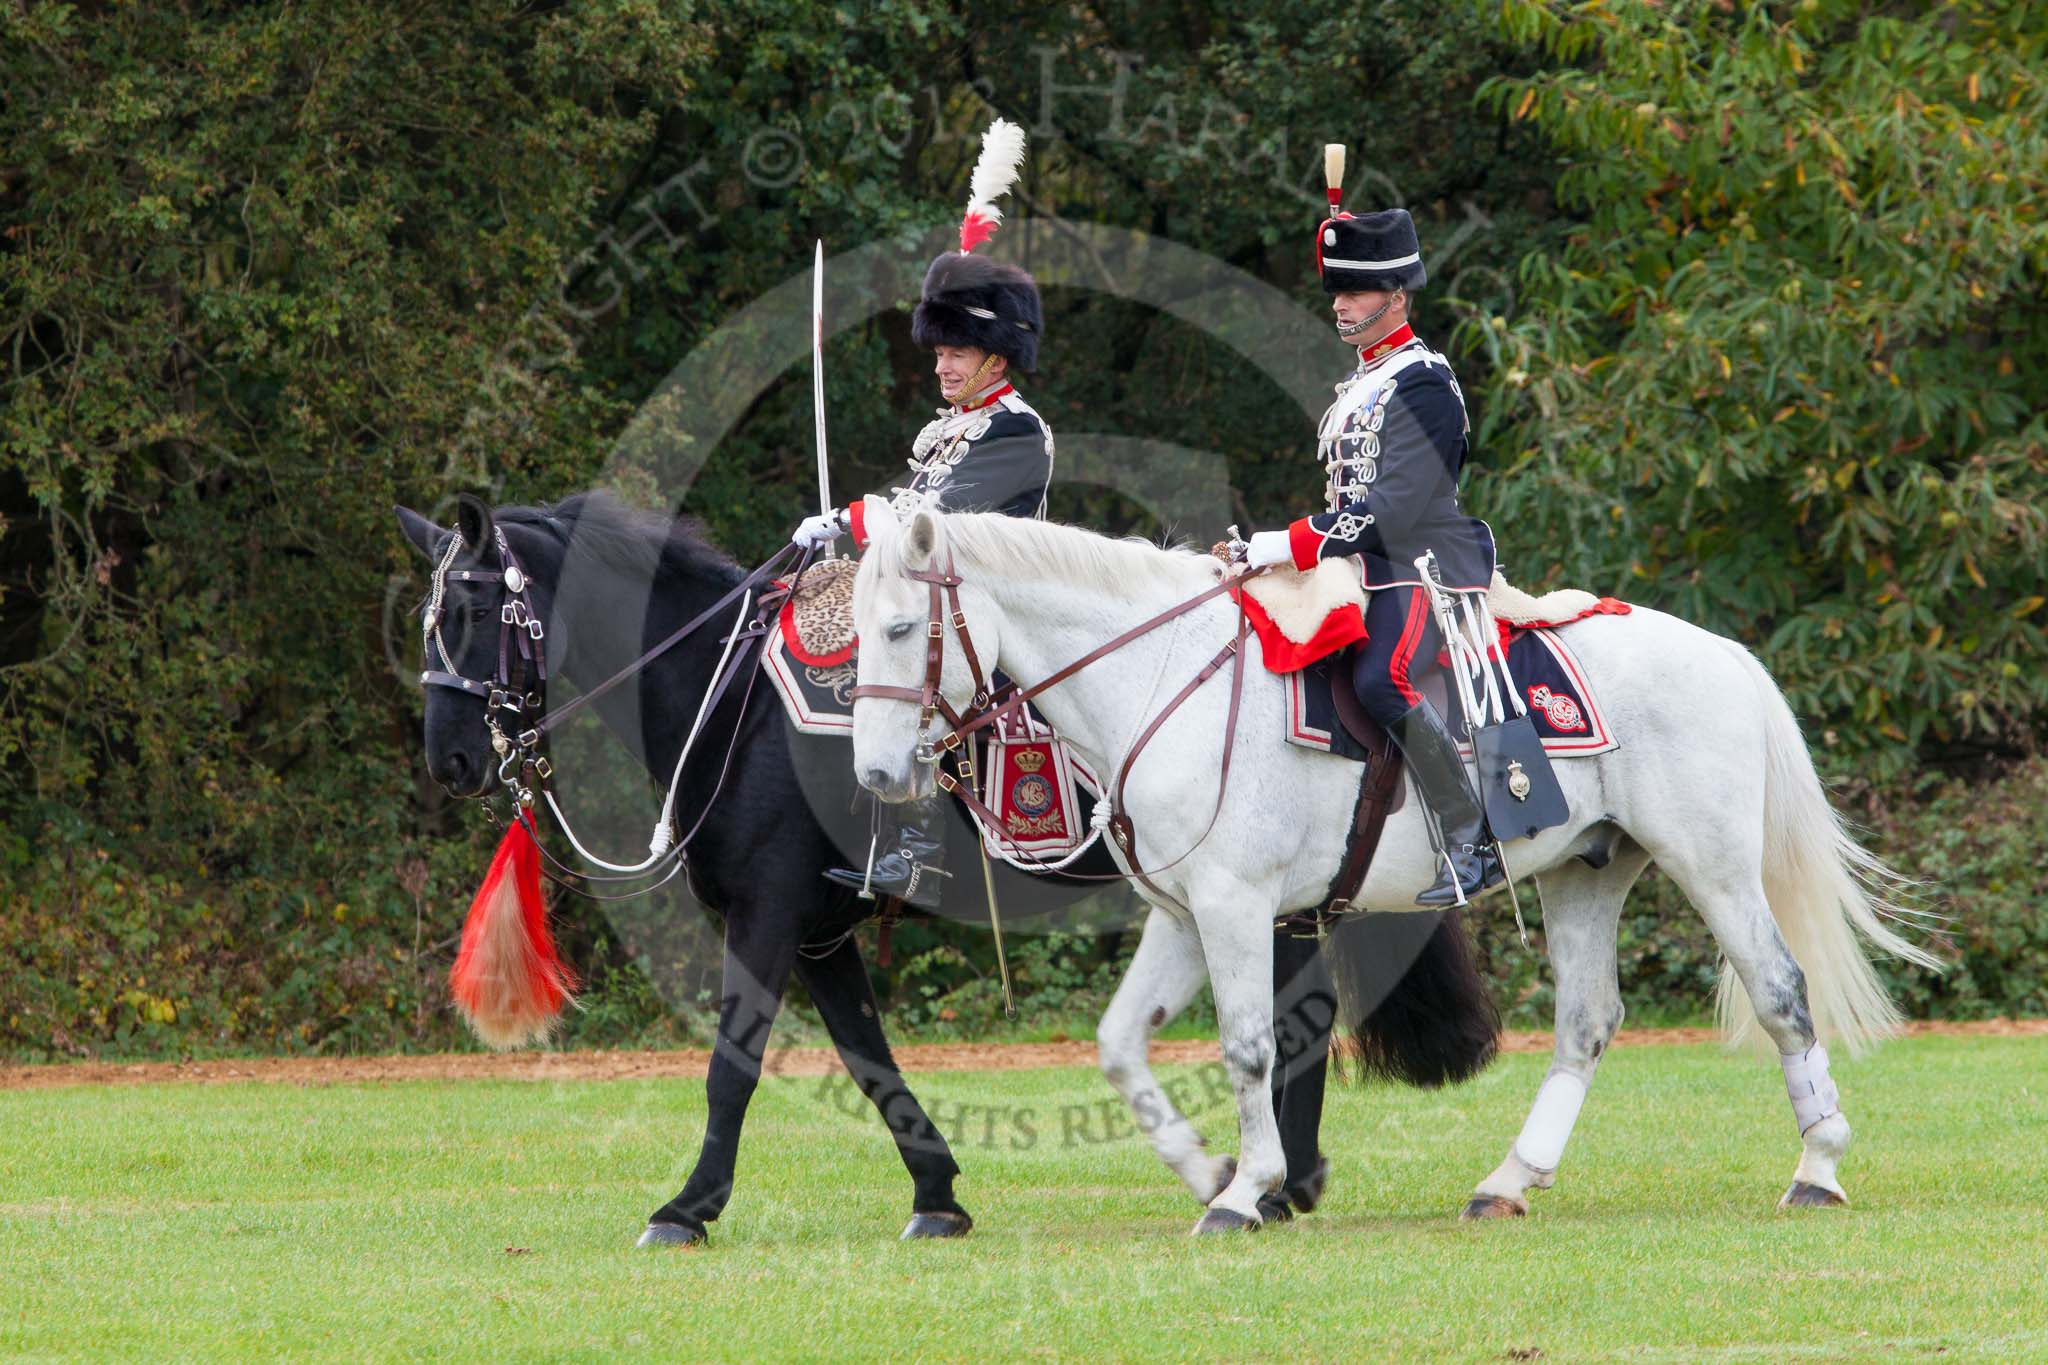
[{"label": "long pale tail of the white horse", "polygon": [[[1898,1033],[1901,1015],[1858,935],[1894,958],[1933,970],[1942,964],[1884,923],[1911,919],[1911,911],[1890,900],[1905,878],[1843,827],[1812,767],[1798,716],[1755,655],[1735,649],[1749,665],[1761,702],[1763,894],[1786,948],[1806,974],[1815,1031],[1823,1042],[1860,1052]],[[1755,1038],[1757,1015],[1749,993],[1726,962],[1720,966],[1718,1013],[1731,1042]]]}]

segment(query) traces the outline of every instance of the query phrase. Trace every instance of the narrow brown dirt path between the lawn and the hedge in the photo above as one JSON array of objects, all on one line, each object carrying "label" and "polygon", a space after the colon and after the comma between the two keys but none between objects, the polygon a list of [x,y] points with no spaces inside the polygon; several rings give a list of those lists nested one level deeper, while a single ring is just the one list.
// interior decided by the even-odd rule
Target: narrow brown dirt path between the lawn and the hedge
[{"label": "narrow brown dirt path between the lawn and the hedge", "polygon": [[[1982,1019],[1972,1023],[1911,1023],[1915,1036],[1958,1033],[1970,1038],[2044,1038],[2048,1019]],[[1714,1029],[1624,1029],[1618,1046],[1710,1044]],[[1509,1031],[1505,1052],[1548,1052],[1548,1033]],[[1159,1062],[1208,1062],[1217,1044],[1159,1042]],[[35,1091],[63,1085],[166,1085],[166,1083],[270,1083],[270,1085],[362,1085],[375,1081],[643,1081],[659,1076],[700,1078],[711,1054],[698,1048],[676,1052],[442,1052],[430,1056],[272,1056],[221,1062],[57,1062],[49,1066],[0,1066],[0,1091]],[[1094,1042],[1061,1044],[909,1044],[897,1048],[897,1062],[909,1072],[928,1070],[1024,1070],[1036,1066],[1094,1066]],[[840,1070],[829,1048],[774,1048],[766,1070],[772,1076],[823,1076]]]}]

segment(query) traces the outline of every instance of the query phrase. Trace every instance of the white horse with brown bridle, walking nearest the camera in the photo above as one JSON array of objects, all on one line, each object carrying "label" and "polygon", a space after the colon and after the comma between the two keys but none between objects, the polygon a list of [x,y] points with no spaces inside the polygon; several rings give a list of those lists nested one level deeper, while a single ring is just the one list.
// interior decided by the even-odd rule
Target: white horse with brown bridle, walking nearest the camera
[{"label": "white horse with brown bridle, walking nearest the camera", "polygon": [[[1053,675],[1096,645],[1217,583],[1219,561],[1137,540],[1001,516],[868,516],[872,544],[854,587],[860,684],[915,688],[928,667],[930,587],[907,571],[946,569],[983,667],[1018,684]],[[1163,702],[1237,628],[1217,598],[1081,669],[1038,706],[1100,774],[1112,774]],[[1522,1134],[1466,1205],[1526,1214],[1548,1189],[1599,1054],[1622,1023],[1616,921],[1655,862],[1692,898],[1726,956],[1722,1023],[1759,1023],[1776,1046],[1802,1150],[1782,1203],[1841,1203],[1849,1146],[1825,1042],[1849,1048],[1896,1031],[1898,1015],[1862,943],[1933,964],[1886,927],[1874,890],[1886,870],[1843,831],[1778,686],[1739,645],[1636,608],[1565,626],[1624,745],[1556,765],[1567,825],[1511,841],[1507,862],[1536,876],[1556,972],[1556,1052]],[[961,710],[971,681],[956,626],[942,628],[942,694]],[[1274,1066],[1272,921],[1317,905],[1343,855],[1360,767],[1282,743],[1284,679],[1245,669],[1237,751],[1217,814],[1227,669],[1153,737],[1130,774],[1124,812],[1135,862],[1157,870],[1153,911],[1130,970],[1102,1017],[1102,1070],[1165,1164],[1208,1205],[1202,1230],[1257,1224],[1260,1195],[1284,1175],[1268,1076]],[[940,722],[942,724],[942,722]],[[920,708],[854,704],[854,763],[885,800],[924,796]],[[1409,911],[1434,878],[1421,802],[1386,833],[1360,902]],[[1196,845],[1196,841],[1200,843]],[[1190,851],[1190,845],[1192,851]],[[1124,864],[1130,870],[1128,862]],[[1214,988],[1223,1058],[1237,1093],[1241,1150],[1204,1150],[1147,1064],[1151,1031],[1202,984]]]}]

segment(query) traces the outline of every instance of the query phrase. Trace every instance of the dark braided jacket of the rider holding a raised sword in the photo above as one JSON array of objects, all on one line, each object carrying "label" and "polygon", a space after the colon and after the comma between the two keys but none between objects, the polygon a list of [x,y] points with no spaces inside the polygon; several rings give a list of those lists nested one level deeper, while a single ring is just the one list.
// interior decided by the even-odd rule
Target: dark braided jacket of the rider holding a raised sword
[{"label": "dark braided jacket of the rider holding a raised sword", "polygon": [[[911,477],[891,489],[899,520],[922,510],[1044,516],[1053,483],[1053,430],[1010,385],[967,405],[942,407],[911,442]],[[850,508],[848,530],[868,546],[864,503]]]}]

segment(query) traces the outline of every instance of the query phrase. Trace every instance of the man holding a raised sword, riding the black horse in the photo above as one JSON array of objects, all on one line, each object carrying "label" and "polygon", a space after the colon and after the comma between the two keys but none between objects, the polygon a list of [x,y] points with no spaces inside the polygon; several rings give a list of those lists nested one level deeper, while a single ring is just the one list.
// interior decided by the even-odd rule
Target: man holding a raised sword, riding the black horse
[{"label": "man holding a raised sword, riding the black horse", "polygon": [[[975,256],[1001,221],[995,199],[1016,184],[1024,162],[1024,129],[1004,119],[981,137],[981,158],[961,219],[961,250],[940,252],[924,274],[909,334],[934,352],[946,407],[918,432],[909,446],[909,479],[891,489],[899,520],[920,510],[1004,512],[1044,516],[1053,481],[1053,428],[1044,424],[1012,375],[1038,368],[1044,305],[1038,284],[1012,264]],[[791,536],[797,544],[825,544],[842,530],[866,548],[864,501],[805,518]],[[944,872],[944,812],[936,800],[883,806],[885,849],[864,876],[854,868],[827,872],[846,886],[866,884],[883,896],[915,894],[928,872]]]}]

